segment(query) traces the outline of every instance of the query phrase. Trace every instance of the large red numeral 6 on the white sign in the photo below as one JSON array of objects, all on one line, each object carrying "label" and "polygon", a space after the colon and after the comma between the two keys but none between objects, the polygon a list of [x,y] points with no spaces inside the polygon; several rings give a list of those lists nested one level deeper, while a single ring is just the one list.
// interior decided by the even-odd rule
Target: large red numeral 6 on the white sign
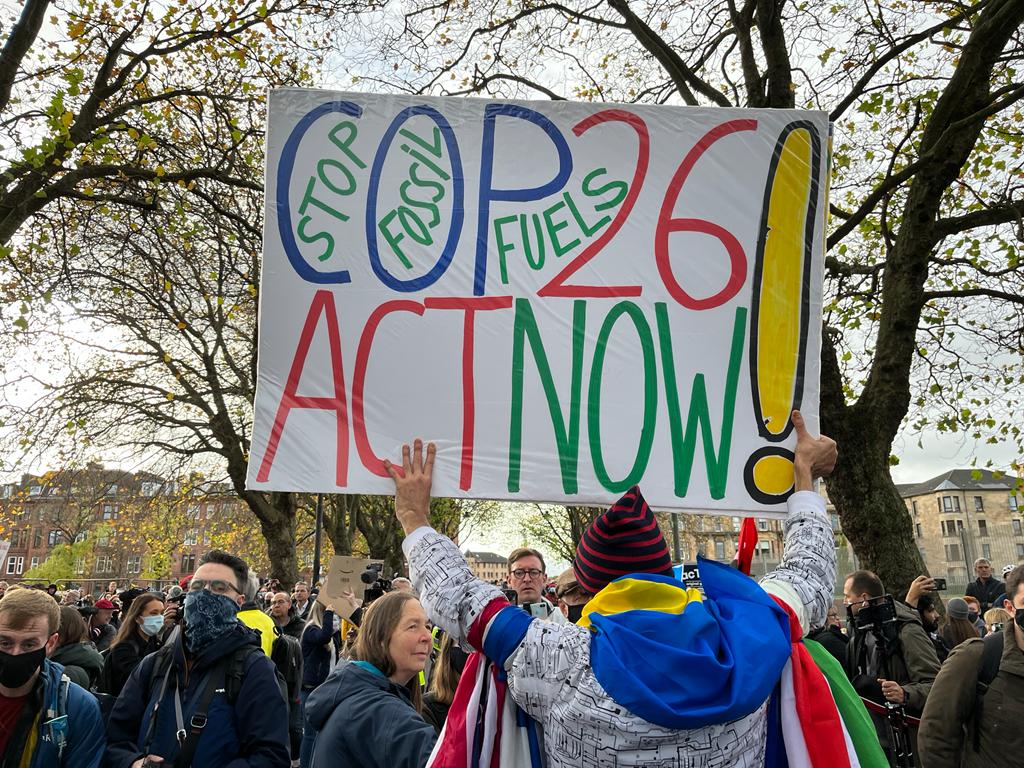
[{"label": "large red numeral 6 on the white sign", "polygon": [[[746,281],[746,254],[739,241],[725,227],[712,223],[706,219],[673,218],[672,211],[679,200],[679,193],[682,191],[686,178],[693,170],[693,166],[700,157],[720,138],[728,136],[737,131],[755,131],[758,128],[756,120],[730,120],[728,123],[712,128],[706,133],[696,144],[693,145],[679,164],[672,182],[665,193],[665,201],[662,203],[662,212],[657,217],[657,228],[654,232],[654,260],[657,262],[657,271],[662,275],[662,282],[669,290],[676,301],[687,309],[711,309],[721,306],[742,288]],[[669,234],[672,232],[702,232],[717,238],[725,246],[726,253],[729,254],[729,280],[721,291],[705,299],[696,299],[686,293],[679,285],[675,273],[672,271],[672,263],[669,261]]]}]

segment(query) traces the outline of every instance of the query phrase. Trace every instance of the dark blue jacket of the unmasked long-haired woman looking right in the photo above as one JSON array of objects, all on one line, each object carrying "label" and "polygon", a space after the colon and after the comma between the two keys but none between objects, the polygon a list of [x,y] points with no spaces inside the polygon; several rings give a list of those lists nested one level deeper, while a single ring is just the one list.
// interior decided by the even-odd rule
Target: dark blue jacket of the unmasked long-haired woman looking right
[{"label": "dark blue jacket of the unmasked long-haired woman looking right", "polygon": [[338,663],[306,699],[312,768],[422,768],[437,738],[409,691],[360,662]]}]

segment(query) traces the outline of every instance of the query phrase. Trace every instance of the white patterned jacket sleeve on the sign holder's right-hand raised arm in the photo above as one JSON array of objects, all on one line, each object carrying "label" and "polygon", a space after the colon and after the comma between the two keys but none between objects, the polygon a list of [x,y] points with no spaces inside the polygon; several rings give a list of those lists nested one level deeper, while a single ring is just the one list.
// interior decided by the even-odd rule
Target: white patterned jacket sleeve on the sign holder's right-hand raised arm
[{"label": "white patterned jacket sleeve on the sign holder's right-hand raised arm", "polygon": [[836,588],[836,538],[825,502],[812,490],[790,497],[782,562],[761,580],[796,611],[806,635],[825,623]]}]

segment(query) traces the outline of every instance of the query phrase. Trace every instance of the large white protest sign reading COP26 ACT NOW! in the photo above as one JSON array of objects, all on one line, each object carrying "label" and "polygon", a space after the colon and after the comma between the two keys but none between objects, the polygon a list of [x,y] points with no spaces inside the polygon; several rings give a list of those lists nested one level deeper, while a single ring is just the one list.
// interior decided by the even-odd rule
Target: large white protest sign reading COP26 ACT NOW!
[{"label": "large white protest sign reading COP26 ACT NOW!", "polygon": [[817,427],[821,113],[269,96],[248,486],[781,511]]}]

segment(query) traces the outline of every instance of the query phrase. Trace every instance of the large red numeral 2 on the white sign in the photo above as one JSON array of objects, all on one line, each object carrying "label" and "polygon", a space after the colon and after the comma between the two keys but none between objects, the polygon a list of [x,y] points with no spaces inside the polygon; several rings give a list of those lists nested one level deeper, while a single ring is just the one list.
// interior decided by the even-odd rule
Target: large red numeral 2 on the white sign
[{"label": "large red numeral 2 on the white sign", "polygon": [[633,210],[633,204],[637,202],[640,189],[643,186],[644,176],[647,175],[647,163],[650,157],[650,136],[647,133],[647,124],[643,119],[626,110],[604,110],[595,113],[589,118],[582,120],[572,128],[577,136],[582,136],[586,131],[595,125],[616,121],[626,123],[637,132],[640,145],[637,150],[637,165],[633,171],[633,181],[630,183],[629,194],[623,205],[615,214],[615,218],[608,224],[604,233],[584,249],[583,253],[565,265],[554,279],[537,292],[538,296],[569,296],[573,298],[615,298],[621,296],[639,296],[643,290],[640,286],[566,286],[565,281],[571,278],[584,264],[596,256],[608,241],[615,237],[626,219]]}]

